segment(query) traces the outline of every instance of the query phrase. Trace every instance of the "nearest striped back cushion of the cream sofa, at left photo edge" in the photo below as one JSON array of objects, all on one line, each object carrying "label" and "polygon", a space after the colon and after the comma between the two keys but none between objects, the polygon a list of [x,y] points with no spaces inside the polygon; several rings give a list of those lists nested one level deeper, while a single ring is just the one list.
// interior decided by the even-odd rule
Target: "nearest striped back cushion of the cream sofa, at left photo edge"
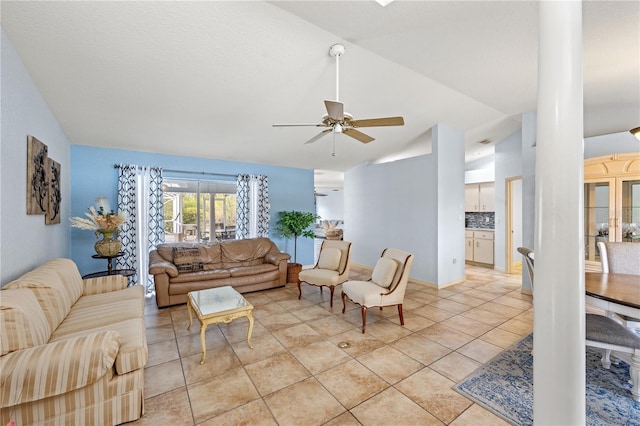
[{"label": "nearest striped back cushion of the cream sofa, at left photo edge", "polygon": [[31,290],[0,291],[0,356],[44,345],[50,337],[49,322]]}]

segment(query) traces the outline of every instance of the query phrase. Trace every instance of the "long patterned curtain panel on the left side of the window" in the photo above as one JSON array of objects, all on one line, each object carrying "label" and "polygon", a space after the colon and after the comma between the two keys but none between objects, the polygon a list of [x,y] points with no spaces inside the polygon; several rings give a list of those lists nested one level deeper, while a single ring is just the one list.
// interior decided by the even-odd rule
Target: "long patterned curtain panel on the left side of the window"
[{"label": "long patterned curtain panel on the left side of the window", "polygon": [[118,166],[118,210],[127,213],[120,240],[124,256],[116,259],[118,268],[135,269],[131,279],[154,293],[149,275],[149,252],[164,241],[162,169],[136,165]]}]

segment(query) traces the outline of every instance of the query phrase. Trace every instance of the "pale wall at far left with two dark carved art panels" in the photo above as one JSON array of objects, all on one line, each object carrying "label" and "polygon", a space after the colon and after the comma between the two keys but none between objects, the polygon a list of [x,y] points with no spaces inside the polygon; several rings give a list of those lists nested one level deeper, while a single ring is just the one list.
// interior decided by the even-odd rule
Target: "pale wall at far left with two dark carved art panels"
[{"label": "pale wall at far left with two dark carved art panels", "polygon": [[[69,256],[70,149],[47,103],[2,30],[2,117],[0,131],[0,282],[4,285],[48,260]],[[61,165],[61,223],[26,214],[27,136],[49,148]]]}]

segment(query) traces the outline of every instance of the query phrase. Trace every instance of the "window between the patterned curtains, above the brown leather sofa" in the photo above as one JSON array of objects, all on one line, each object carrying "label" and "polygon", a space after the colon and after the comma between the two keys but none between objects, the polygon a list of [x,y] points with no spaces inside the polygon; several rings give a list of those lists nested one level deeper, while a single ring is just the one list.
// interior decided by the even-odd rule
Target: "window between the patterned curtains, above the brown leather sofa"
[{"label": "window between the patterned curtains, above the brown leather sofa", "polygon": [[236,182],[165,178],[165,242],[236,237]]}]

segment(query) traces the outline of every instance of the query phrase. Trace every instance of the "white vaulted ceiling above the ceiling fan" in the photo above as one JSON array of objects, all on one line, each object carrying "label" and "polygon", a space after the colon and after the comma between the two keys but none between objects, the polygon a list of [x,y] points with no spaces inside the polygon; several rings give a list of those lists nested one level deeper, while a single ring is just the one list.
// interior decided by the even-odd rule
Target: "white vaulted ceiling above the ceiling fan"
[{"label": "white vaulted ceiling above the ceiling fan", "polygon": [[[2,1],[2,27],[73,144],[320,170],[430,152],[465,132],[467,160],[536,108],[533,1]],[[585,136],[640,125],[640,2],[583,3]],[[323,101],[401,115],[314,144]],[[477,142],[490,139],[487,146]]]}]

